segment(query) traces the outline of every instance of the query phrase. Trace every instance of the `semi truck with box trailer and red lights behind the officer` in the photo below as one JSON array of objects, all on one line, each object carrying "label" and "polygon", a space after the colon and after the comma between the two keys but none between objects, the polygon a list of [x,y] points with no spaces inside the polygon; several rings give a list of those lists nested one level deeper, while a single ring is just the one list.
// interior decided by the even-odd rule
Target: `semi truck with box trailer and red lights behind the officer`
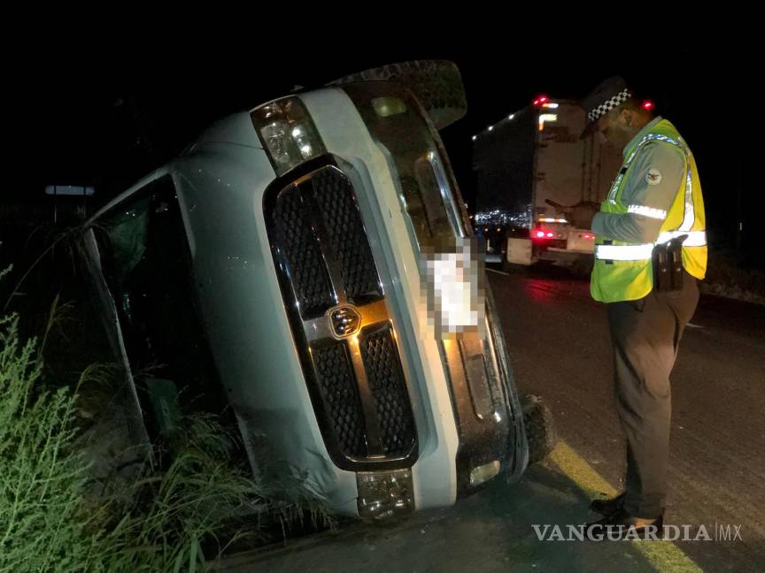
[{"label": "semi truck with box trailer and red lights behind the officer", "polygon": [[618,149],[581,137],[586,119],[576,101],[540,95],[474,135],[475,226],[506,231],[506,264],[591,269],[594,233],[553,206],[603,201],[622,164]]}]

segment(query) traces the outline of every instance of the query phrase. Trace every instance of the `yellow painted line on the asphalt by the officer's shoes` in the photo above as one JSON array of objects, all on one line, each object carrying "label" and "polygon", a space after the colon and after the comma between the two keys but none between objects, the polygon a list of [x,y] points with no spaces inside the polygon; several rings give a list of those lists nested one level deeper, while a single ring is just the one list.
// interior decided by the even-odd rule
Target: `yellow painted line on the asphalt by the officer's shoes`
[{"label": "yellow painted line on the asphalt by the officer's shoes", "polygon": [[[550,453],[549,459],[569,479],[591,496],[605,493],[608,497],[614,497],[618,493],[613,485],[602,478],[589,463],[584,461],[581,455],[578,455],[562,439]],[[633,541],[632,543],[658,571],[703,573],[703,570],[671,541]]]}]

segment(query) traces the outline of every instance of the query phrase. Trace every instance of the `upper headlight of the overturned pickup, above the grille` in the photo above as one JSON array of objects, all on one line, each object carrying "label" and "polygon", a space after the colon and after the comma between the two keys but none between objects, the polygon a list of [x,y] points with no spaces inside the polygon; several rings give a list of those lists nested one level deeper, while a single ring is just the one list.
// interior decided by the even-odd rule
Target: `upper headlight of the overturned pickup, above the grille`
[{"label": "upper headlight of the overturned pickup, above the grille", "polygon": [[251,111],[250,117],[277,175],[327,152],[311,116],[298,97],[285,97],[261,105]]}]

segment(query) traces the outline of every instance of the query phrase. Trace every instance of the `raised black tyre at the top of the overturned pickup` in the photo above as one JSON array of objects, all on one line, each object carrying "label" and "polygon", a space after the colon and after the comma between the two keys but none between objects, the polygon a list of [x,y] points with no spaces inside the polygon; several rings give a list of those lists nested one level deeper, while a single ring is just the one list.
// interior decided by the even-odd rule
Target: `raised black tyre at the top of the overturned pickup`
[{"label": "raised black tyre at the top of the overturned pickup", "polygon": [[394,81],[408,88],[437,129],[451,126],[468,112],[465,86],[456,64],[447,60],[413,60],[352,73],[328,86],[357,81]]}]

